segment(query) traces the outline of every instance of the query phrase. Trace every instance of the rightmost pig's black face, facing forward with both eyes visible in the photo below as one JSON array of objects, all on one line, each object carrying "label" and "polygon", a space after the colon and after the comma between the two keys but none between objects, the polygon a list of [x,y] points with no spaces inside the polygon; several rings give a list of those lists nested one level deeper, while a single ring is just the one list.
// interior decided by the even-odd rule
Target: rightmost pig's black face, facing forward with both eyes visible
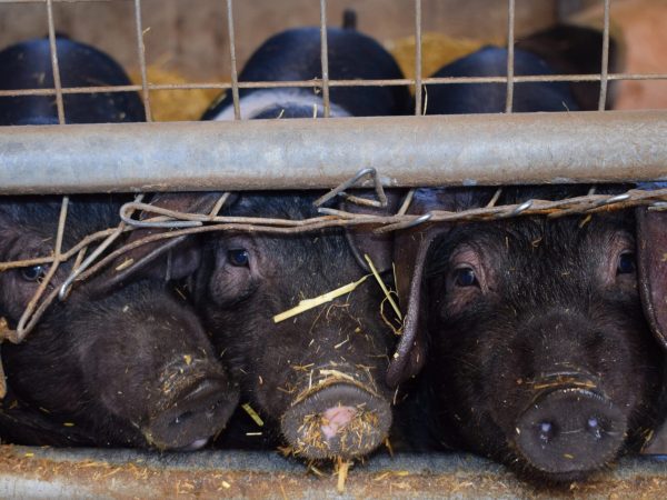
[{"label": "rightmost pig's black face, facing forward with both eyes visible", "polygon": [[441,439],[551,480],[643,442],[663,358],[630,213],[457,227],[431,248],[426,281]]}]

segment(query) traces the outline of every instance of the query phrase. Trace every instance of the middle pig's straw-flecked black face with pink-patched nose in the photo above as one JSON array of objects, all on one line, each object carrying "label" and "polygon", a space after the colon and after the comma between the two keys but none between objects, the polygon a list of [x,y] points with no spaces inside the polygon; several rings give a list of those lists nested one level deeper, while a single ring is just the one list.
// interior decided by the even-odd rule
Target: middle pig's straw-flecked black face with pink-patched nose
[{"label": "middle pig's straw-flecked black face with pink-patched nose", "polygon": [[[313,198],[245,194],[232,212],[302,219]],[[381,383],[391,331],[374,278],[349,294],[276,323],[273,316],[367,271],[341,230],[222,233],[208,243],[197,301],[245,397],[307,458],[374,450],[391,422]]]}]

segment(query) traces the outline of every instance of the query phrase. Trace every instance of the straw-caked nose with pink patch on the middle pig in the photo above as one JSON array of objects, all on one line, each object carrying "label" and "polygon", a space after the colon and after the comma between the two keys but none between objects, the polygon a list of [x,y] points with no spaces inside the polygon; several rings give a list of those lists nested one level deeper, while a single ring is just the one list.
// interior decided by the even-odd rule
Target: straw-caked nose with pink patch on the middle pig
[{"label": "straw-caked nose with pink patch on the middle pig", "polygon": [[309,459],[367,454],[385,441],[390,426],[388,401],[345,382],[308,394],[281,419],[295,452]]}]

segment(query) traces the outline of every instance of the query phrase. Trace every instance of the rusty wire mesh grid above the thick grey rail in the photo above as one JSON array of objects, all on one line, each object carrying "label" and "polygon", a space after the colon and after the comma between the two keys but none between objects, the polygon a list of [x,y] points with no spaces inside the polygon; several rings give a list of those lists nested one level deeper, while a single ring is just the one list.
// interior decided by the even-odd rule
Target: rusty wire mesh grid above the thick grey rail
[{"label": "rusty wire mesh grid above the thick grey rail", "polygon": [[422,8],[421,0],[414,2],[415,17],[415,78],[402,79],[375,79],[375,80],[337,80],[329,78],[328,68],[328,51],[327,51],[327,32],[323,27],[327,26],[327,1],[320,0],[320,29],[321,29],[321,78],[313,78],[303,81],[238,81],[237,56],[236,56],[236,34],[233,29],[233,9],[232,0],[226,0],[227,3],[227,27],[230,48],[230,82],[200,82],[200,83],[151,83],[147,77],[147,58],[143,43],[143,27],[141,21],[141,0],[126,0],[133,2],[135,24],[136,24],[136,44],[141,74],[140,84],[132,86],[96,86],[96,87],[71,87],[61,88],[60,76],[58,71],[58,54],[54,47],[56,27],[53,24],[53,3],[103,3],[109,0],[0,0],[0,4],[21,4],[21,3],[44,3],[48,10],[49,19],[49,38],[51,41],[51,52],[53,61],[53,89],[16,89],[0,90],[0,97],[21,97],[21,96],[56,96],[59,118],[62,118],[62,96],[71,93],[106,93],[106,92],[141,92],[147,119],[151,119],[150,92],[161,90],[196,90],[196,89],[219,89],[231,90],[232,100],[235,103],[235,112],[239,108],[239,89],[271,89],[271,88],[317,88],[322,93],[325,101],[325,114],[328,116],[330,108],[329,88],[335,87],[372,87],[372,86],[411,86],[415,90],[415,113],[422,114],[422,87],[425,84],[452,84],[452,83],[505,83],[507,86],[506,111],[511,112],[511,102],[514,94],[514,86],[521,82],[600,82],[599,109],[605,109],[607,97],[607,88],[610,81],[620,80],[667,80],[667,73],[631,73],[616,72],[609,73],[609,26],[610,26],[610,0],[601,0],[604,2],[604,27],[603,27],[603,48],[601,48],[601,68],[599,73],[594,74],[536,74],[536,76],[515,76],[514,74],[514,44],[515,44],[515,19],[516,3],[515,0],[508,0],[507,3],[507,76],[505,77],[457,77],[457,78],[431,78],[421,74],[422,59]]}]

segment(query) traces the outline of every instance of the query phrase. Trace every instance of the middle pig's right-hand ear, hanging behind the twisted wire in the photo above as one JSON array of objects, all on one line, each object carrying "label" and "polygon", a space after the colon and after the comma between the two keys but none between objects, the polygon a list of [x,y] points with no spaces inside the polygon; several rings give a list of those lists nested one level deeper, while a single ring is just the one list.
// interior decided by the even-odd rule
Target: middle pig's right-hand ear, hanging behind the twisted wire
[{"label": "middle pig's right-hand ear, hanging behind the twisted wire", "polygon": [[[368,213],[374,216],[390,216],[396,213],[400,207],[404,192],[398,190],[385,191],[387,207],[376,208],[360,206],[350,201],[342,201],[340,209],[350,213]],[[368,193],[355,193],[359,198],[369,198]],[[370,199],[370,198],[369,198]],[[351,226],[346,228],[345,236],[348,240],[352,254],[361,269],[370,272],[368,262],[364,258],[367,254],[379,273],[390,271],[394,261],[394,236],[391,233],[376,234],[372,228],[365,226]]]}]

